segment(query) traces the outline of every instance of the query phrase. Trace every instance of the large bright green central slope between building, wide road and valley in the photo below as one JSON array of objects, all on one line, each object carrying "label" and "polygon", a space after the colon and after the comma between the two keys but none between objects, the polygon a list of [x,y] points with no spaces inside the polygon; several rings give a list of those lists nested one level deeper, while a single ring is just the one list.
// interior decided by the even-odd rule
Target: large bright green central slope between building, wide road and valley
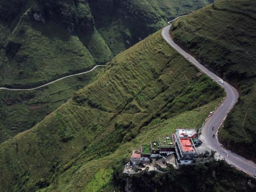
[{"label": "large bright green central slope between building, wide road and valley", "polygon": [[197,73],[160,31],[122,52],[42,122],[0,144],[0,191],[111,191],[109,173],[132,148],[200,127],[220,102],[223,90]]}]

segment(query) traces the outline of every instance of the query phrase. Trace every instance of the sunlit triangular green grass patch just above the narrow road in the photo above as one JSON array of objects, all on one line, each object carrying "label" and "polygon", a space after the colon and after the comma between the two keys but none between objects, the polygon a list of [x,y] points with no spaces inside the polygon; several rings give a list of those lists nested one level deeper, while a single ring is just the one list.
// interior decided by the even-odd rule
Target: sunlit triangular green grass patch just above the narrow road
[{"label": "sunlit triangular green grass patch just above the narrow road", "polygon": [[[21,19],[9,37],[9,44],[20,44],[21,47],[2,71],[3,85],[34,87],[68,74],[89,70],[96,64],[77,36],[54,22],[36,25]],[[19,35],[21,31],[24,33]]]}]

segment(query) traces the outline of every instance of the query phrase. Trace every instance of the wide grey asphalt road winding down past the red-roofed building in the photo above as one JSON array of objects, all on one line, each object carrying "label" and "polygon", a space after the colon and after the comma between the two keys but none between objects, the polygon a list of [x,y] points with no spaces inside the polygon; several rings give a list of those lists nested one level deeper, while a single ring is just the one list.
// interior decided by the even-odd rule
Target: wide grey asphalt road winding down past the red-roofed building
[{"label": "wide grey asphalt road winding down past the red-roofed building", "polygon": [[[172,20],[173,21],[173,20]],[[172,38],[170,37],[170,26],[165,27],[162,30],[162,36],[163,38],[180,54],[182,54],[184,57],[186,57],[190,62],[192,62],[195,66],[200,68],[204,73],[206,73],[210,78],[218,82],[220,84],[219,80],[221,79],[216,74],[208,70],[206,67],[204,67],[202,64],[200,64],[195,58],[193,58],[190,54],[185,52],[182,48],[180,48]],[[226,118],[228,112],[234,107],[238,100],[238,92],[234,87],[232,87],[230,84],[225,82],[223,85],[220,84],[225,91],[226,91],[226,98],[223,100],[222,104],[218,107],[216,111],[214,111],[214,114],[212,117],[210,117],[206,123],[203,126],[202,134],[200,135],[200,140],[202,140],[204,147],[208,150],[215,150],[216,157],[218,158],[226,158],[226,161],[229,164],[232,164],[236,166],[236,168],[245,171],[247,174],[250,175],[256,175],[256,165],[253,162],[250,162],[249,160],[246,160],[234,153],[230,153],[230,151],[226,150],[222,146],[220,146],[218,142],[218,137],[213,138],[213,134],[218,134],[218,128],[223,122],[223,120]],[[212,130],[212,127],[214,127],[214,130]]]}]

